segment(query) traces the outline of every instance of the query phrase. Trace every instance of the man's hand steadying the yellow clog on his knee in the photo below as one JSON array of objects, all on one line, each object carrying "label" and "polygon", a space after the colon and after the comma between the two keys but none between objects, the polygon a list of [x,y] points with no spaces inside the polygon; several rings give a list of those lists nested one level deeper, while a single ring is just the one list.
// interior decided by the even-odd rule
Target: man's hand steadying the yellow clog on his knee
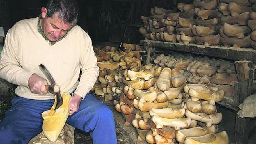
[{"label": "man's hand steadying the yellow clog on his knee", "polygon": [[81,99],[82,97],[77,94],[74,94],[72,97],[70,97],[68,106],[69,115],[72,115],[79,110]]}]

